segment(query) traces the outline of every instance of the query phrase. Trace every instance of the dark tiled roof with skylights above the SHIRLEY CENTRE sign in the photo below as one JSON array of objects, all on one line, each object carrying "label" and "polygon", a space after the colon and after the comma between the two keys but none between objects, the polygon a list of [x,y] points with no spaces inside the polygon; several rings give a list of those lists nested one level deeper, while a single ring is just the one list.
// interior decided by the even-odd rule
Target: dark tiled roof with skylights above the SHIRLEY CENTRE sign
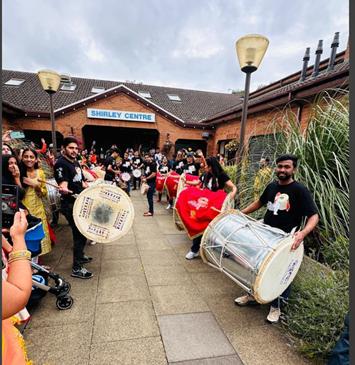
[{"label": "dark tiled roof with skylights above the SHIRLEY CENTRE sign", "polygon": [[[20,86],[4,85],[11,78],[24,79],[25,82]],[[80,104],[83,99],[93,97],[100,98],[101,94],[94,94],[91,89],[104,87],[106,90],[124,85],[126,88],[138,92],[148,91],[151,94],[149,99],[141,99],[148,103],[153,103],[177,117],[184,123],[197,123],[222,110],[232,107],[240,102],[240,97],[236,94],[224,94],[208,91],[197,91],[178,89],[172,87],[144,85],[130,82],[118,82],[96,79],[85,79],[71,77],[73,84],[77,85],[74,91],[59,90],[53,95],[54,109],[63,109],[68,105]],[[119,89],[120,91],[122,90]],[[106,93],[107,94],[107,93]],[[167,94],[176,94],[180,101],[169,100]],[[102,96],[102,95],[101,95]],[[3,104],[14,111],[22,111],[31,114],[47,114],[49,111],[48,95],[42,90],[41,84],[36,73],[21,71],[2,71],[2,100]],[[147,103],[147,104],[148,104]]]}]

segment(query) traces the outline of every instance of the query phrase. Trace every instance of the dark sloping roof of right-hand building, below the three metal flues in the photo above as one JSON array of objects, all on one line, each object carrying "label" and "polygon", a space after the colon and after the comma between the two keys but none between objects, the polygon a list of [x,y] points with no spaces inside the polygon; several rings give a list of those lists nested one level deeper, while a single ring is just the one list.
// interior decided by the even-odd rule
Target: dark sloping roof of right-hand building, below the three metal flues
[{"label": "dark sloping roof of right-hand building, below the three metal flues", "polygon": [[[248,101],[248,108],[256,106],[258,104],[265,104],[266,108],[269,108],[270,105],[267,104],[268,101],[280,98],[282,96],[288,95],[289,93],[297,93],[300,90],[307,89],[322,83],[327,82],[328,80],[339,79],[341,80],[341,76],[349,75],[350,64],[348,61],[343,61],[339,64],[334,66],[334,69],[328,71],[324,69],[321,71],[316,77],[308,76],[304,81],[294,81],[285,86],[273,89],[271,91],[267,91],[267,87],[265,87],[266,92],[259,93],[259,90],[255,91],[254,93],[250,94],[250,98]],[[346,78],[346,85],[348,84],[348,77]],[[345,86],[339,84],[340,87]],[[237,113],[242,110],[242,102],[239,102],[237,105],[234,105],[226,110],[216,113],[211,117],[207,117],[205,120],[201,121],[201,123],[205,125],[215,124],[221,122],[220,118],[227,116],[232,113]]]}]

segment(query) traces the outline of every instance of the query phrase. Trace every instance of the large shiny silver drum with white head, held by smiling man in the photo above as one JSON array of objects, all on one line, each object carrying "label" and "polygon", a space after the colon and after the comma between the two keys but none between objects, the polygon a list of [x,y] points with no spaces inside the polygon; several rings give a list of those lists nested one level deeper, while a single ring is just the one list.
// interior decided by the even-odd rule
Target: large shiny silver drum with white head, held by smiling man
[{"label": "large shiny silver drum with white head, held by smiling man", "polygon": [[280,296],[301,266],[303,243],[291,251],[293,241],[293,232],[285,233],[229,210],[208,225],[200,252],[204,262],[263,304]]}]

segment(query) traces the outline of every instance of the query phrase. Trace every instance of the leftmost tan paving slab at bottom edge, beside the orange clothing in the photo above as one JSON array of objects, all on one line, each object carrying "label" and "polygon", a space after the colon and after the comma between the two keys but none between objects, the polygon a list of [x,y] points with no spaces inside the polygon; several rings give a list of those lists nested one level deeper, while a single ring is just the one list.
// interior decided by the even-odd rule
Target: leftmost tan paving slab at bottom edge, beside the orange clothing
[{"label": "leftmost tan paving slab at bottom edge, beside the orange clothing", "polygon": [[28,357],[36,365],[88,365],[91,332],[91,322],[29,328],[24,336]]}]

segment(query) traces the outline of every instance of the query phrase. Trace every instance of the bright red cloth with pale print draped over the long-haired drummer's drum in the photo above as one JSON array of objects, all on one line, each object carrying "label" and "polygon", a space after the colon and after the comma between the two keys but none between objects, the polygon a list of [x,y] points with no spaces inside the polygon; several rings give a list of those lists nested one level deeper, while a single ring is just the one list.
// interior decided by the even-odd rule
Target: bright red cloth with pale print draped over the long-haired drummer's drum
[{"label": "bright red cloth with pale print draped over the long-haired drummer's drum", "polygon": [[203,233],[208,224],[219,214],[227,196],[224,190],[213,192],[194,186],[187,187],[179,194],[175,208],[187,231],[189,238]]}]

